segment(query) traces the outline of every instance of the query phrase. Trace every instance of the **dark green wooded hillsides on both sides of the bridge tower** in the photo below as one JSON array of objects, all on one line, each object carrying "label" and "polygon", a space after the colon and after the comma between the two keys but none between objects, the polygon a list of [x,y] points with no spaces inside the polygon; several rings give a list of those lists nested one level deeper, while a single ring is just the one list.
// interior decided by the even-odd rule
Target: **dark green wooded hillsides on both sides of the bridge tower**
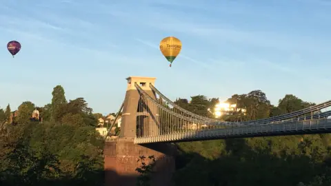
[{"label": "dark green wooded hillsides on both sides of the bridge tower", "polygon": [[[314,105],[293,95],[271,105],[260,90],[234,94],[227,102],[238,109],[220,120],[250,121]],[[176,103],[213,117],[208,108],[213,112],[218,100],[198,95]],[[16,112],[10,105],[0,110],[0,185],[103,185],[103,138],[95,131],[102,114],[92,114],[83,98],[67,101],[59,85],[51,103],[37,107],[42,123],[30,119],[34,109],[26,101]],[[329,134],[316,134],[178,143],[174,182],[177,186],[330,185],[330,139]]]}]

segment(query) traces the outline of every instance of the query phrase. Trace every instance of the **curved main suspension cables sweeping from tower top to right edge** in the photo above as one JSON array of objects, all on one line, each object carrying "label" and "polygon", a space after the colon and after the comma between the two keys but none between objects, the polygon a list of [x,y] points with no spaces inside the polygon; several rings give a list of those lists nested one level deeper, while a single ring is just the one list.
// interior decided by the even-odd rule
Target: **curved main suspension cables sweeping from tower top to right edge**
[{"label": "curved main suspension cables sweeping from tower top to right edge", "polygon": [[[162,99],[165,99],[165,101],[167,101],[168,103],[170,103],[170,105],[172,105],[173,107],[176,107],[177,109],[181,110],[185,114],[190,114],[190,116],[194,116],[194,117],[200,118],[203,121],[220,122],[220,121],[217,121],[217,120],[214,120],[214,119],[211,119],[211,118],[205,118],[203,116],[199,116],[197,114],[194,114],[192,112],[188,112],[187,110],[184,110],[183,108],[181,108],[178,105],[176,105],[174,102],[170,101],[170,99],[168,99],[166,96],[164,96],[159,90],[157,90],[156,87],[154,87],[152,85],[152,83],[150,83],[150,88],[154,92],[157,92],[157,94],[159,94],[159,96]],[[236,122],[236,123],[238,123],[239,125],[259,125],[259,124],[268,123],[268,122],[272,122],[272,121],[274,121],[274,122],[280,121],[280,120],[283,121],[285,119],[293,118],[293,116],[301,116],[303,114],[308,114],[310,112],[321,110],[321,109],[323,109],[325,107],[330,107],[330,106],[331,106],[331,101],[326,101],[326,102],[321,103],[319,105],[314,105],[314,106],[305,108],[303,110],[298,110],[296,112],[291,112],[289,114],[283,114],[283,115],[280,115],[280,116],[274,116],[274,117],[271,117],[271,118],[264,118],[264,119],[259,119],[259,120],[255,120],[255,121],[244,121],[244,122]],[[228,124],[231,124],[232,123],[232,125],[233,125],[235,122],[224,122],[224,123],[228,123]]]}]

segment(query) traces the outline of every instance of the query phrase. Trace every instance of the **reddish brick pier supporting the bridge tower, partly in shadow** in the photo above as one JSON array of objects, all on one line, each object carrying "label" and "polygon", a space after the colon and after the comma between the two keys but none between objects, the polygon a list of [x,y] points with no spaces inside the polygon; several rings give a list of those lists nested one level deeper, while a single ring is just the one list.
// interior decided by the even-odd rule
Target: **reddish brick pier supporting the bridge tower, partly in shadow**
[{"label": "reddish brick pier supporting the bridge tower, partly in shadow", "polygon": [[146,156],[145,162],[148,164],[147,157],[151,155],[156,158],[152,185],[172,185],[172,174],[175,168],[172,154],[175,149],[165,144],[158,144],[158,146],[157,148],[143,147],[134,145],[133,141],[121,139],[116,142],[107,142],[104,149],[106,186],[135,186],[139,176],[136,168],[141,166],[141,162],[138,162],[139,156]]}]

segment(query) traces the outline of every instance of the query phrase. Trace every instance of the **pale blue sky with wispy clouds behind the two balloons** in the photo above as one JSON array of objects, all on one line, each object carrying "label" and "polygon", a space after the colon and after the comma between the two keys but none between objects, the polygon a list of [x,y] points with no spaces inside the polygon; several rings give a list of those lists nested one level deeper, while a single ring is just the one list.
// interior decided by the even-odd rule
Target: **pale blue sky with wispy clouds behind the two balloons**
[{"label": "pale blue sky with wispy clouds behind the two balloons", "polygon": [[[263,90],[331,98],[331,2],[321,0],[1,1],[0,106],[50,103],[63,85],[94,112],[119,109],[127,76],[155,76],[170,99]],[[158,45],[181,39],[172,68]],[[8,41],[21,42],[13,59]]]}]

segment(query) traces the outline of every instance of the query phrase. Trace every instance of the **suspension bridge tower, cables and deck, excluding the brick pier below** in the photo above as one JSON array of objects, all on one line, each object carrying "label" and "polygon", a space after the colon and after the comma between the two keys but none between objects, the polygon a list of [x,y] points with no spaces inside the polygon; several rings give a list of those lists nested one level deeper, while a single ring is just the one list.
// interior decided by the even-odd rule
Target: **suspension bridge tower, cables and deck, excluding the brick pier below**
[{"label": "suspension bridge tower, cables and deck, excluding the brick pier below", "polygon": [[[224,122],[184,110],[157,90],[154,80],[146,77],[128,78],[126,99],[119,110],[122,112],[123,131],[119,137],[129,134],[134,138],[134,143],[143,144],[331,131],[331,120],[328,119],[331,111],[321,112],[331,106],[331,101],[272,118]],[[131,105],[133,101],[137,105]],[[126,131],[128,129],[131,131]]]}]

